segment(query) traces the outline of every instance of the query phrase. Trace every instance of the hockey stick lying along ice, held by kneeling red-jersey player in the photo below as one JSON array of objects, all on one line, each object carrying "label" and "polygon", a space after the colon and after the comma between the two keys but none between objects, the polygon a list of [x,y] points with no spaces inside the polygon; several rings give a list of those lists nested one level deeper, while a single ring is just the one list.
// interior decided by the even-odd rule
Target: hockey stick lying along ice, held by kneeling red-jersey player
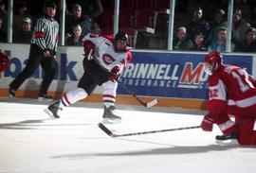
[{"label": "hockey stick lying along ice, held by kneeling red-jersey player", "polygon": [[192,129],[200,128],[200,126],[192,126],[192,127],[175,128],[175,129],[169,129],[169,130],[152,130],[152,131],[141,131],[141,132],[116,134],[116,133],[112,132],[111,130],[108,130],[102,123],[99,123],[98,126],[101,130],[103,130],[107,135],[109,135],[111,137],[134,136],[134,135],[150,134],[150,133],[156,133],[156,132],[166,132],[166,131],[174,131],[174,130],[192,130]]}]

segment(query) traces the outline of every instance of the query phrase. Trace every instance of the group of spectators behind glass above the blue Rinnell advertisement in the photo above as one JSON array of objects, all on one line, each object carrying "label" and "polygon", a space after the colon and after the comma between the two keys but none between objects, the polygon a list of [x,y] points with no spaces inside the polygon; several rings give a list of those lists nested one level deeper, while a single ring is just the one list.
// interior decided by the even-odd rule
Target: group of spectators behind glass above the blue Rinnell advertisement
[{"label": "group of spectators behind glass above the blue Rinnell advertisement", "polygon": [[[242,9],[234,9],[232,17],[231,50],[234,52],[256,52],[256,29],[247,22]],[[227,14],[224,9],[216,9],[214,20],[203,18],[203,9],[193,11],[187,26],[176,29],[174,50],[226,52],[228,39]]]}]

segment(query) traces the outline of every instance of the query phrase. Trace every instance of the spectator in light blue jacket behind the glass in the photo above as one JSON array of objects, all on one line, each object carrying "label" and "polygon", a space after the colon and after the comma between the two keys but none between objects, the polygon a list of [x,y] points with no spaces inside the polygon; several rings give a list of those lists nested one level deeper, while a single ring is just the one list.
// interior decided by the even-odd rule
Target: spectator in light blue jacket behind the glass
[{"label": "spectator in light blue jacket behind the glass", "polygon": [[227,28],[220,27],[217,34],[217,40],[210,44],[208,47],[209,51],[226,51],[226,42],[227,42]]}]

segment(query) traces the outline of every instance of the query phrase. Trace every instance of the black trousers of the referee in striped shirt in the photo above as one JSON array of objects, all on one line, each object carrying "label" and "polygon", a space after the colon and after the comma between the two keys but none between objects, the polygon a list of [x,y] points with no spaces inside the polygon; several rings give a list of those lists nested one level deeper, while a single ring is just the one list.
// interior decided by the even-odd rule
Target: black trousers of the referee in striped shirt
[{"label": "black trousers of the referee in striped shirt", "polygon": [[9,84],[13,90],[17,90],[22,83],[34,74],[37,67],[41,64],[45,70],[45,76],[41,84],[39,95],[46,95],[48,87],[55,75],[54,57],[44,57],[42,50],[34,44],[30,46],[29,58],[24,70]]}]

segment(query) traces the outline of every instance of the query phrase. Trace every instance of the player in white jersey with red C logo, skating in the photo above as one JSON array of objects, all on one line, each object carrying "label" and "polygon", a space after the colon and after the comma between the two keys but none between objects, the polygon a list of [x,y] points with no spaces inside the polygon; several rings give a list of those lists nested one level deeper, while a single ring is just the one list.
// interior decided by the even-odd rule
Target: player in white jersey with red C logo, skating
[{"label": "player in white jersey with red C logo, skating", "polygon": [[103,88],[103,120],[117,122],[121,118],[114,112],[120,74],[132,59],[127,48],[128,35],[119,31],[115,38],[87,34],[83,39],[84,73],[78,88],[67,92],[59,101],[49,105],[46,112],[59,118],[59,110],[90,95],[97,85]]}]

